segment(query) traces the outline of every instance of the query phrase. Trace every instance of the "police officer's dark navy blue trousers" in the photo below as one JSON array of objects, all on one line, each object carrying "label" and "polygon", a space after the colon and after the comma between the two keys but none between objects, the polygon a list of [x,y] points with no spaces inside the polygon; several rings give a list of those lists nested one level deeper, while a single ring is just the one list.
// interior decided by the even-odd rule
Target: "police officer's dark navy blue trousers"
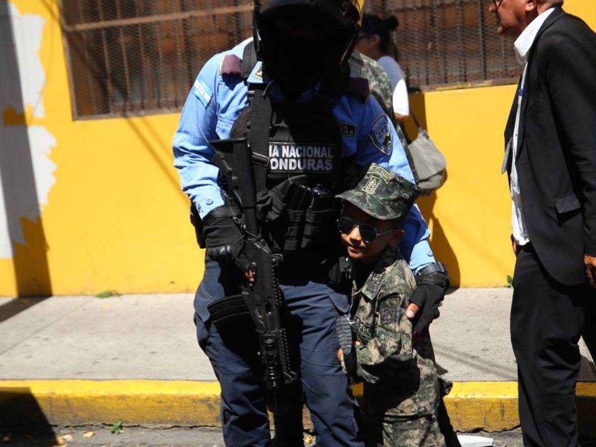
[{"label": "police officer's dark navy blue trousers", "polygon": [[[237,293],[241,278],[206,259],[203,281],[195,297],[195,322],[201,348],[209,357],[221,384],[221,420],[226,446],[271,445],[267,407],[274,413],[277,446],[303,445],[302,402],[311,412],[317,445],[363,446],[358,404],[337,360],[337,315],[347,312],[347,296],[334,293],[314,270],[294,265],[281,275],[288,307],[288,341],[296,349],[294,364],[300,381],[277,395],[268,395],[263,383],[259,342],[250,319],[216,325],[206,304]],[[311,274],[306,274],[308,271]],[[286,278],[290,278],[291,280]],[[285,277],[285,278],[284,278]],[[300,278],[296,278],[300,277]],[[298,354],[299,353],[299,354]]]}]

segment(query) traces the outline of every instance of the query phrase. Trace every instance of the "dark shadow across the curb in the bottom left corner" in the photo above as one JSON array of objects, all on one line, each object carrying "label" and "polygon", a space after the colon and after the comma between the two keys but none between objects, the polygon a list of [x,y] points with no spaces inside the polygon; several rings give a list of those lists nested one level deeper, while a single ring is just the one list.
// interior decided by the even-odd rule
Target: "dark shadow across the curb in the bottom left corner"
[{"label": "dark shadow across the curb in the bottom left corner", "polygon": [[26,387],[4,388],[0,392],[0,433],[3,442],[12,446],[57,444],[54,430]]}]

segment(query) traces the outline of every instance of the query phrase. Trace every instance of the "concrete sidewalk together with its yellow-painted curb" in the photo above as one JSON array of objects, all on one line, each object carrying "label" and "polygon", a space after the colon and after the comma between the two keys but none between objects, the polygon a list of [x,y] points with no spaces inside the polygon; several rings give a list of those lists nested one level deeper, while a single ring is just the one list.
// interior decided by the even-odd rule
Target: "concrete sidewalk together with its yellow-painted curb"
[{"label": "concrete sidewalk together with its yellow-painted curb", "polygon": [[[20,399],[52,424],[217,425],[219,386],[195,339],[192,301],[192,294],[0,299],[0,420]],[[447,402],[460,430],[517,424],[510,305],[511,289],[456,290],[432,325],[439,372],[455,383]],[[596,409],[584,346],[580,380],[591,382],[578,387],[589,396],[581,405]]]}]

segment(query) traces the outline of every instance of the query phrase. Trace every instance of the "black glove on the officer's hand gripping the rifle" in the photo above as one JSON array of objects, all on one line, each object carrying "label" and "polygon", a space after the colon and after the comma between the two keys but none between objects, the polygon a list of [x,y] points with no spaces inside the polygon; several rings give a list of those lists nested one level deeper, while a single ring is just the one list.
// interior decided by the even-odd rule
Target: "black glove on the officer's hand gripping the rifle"
[{"label": "black glove on the officer's hand gripping the rifle", "polygon": [[244,235],[234,221],[236,214],[227,206],[212,209],[203,218],[203,238],[207,256],[217,262],[232,262],[241,271],[249,269],[243,256]]}]

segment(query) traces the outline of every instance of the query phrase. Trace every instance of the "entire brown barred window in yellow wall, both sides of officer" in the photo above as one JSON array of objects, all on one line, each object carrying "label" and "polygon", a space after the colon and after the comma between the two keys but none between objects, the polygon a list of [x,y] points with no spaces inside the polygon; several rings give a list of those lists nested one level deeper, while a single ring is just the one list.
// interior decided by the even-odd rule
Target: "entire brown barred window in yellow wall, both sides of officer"
[{"label": "entire brown barred window in yellow wall, both sides of officer", "polygon": [[[411,87],[519,76],[486,0],[368,0],[367,11],[398,17]],[[179,110],[203,64],[252,23],[247,0],[61,0],[60,14],[77,119]]]}]

